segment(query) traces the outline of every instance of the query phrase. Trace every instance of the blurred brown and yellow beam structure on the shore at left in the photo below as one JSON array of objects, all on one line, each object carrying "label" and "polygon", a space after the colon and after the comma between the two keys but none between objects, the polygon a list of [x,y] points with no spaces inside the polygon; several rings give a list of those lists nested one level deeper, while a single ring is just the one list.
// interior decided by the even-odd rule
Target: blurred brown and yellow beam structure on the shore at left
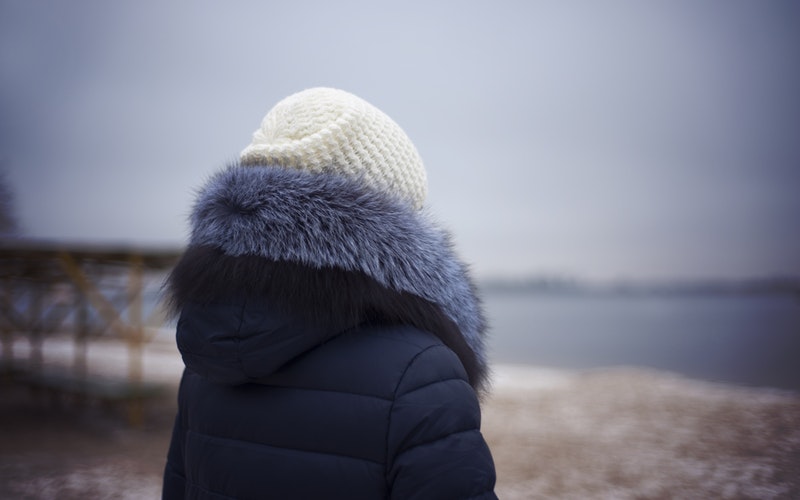
[{"label": "blurred brown and yellow beam structure on the shore at left", "polygon": [[[32,384],[52,387],[57,392],[86,393],[99,397],[101,401],[122,400],[127,403],[129,423],[141,426],[145,413],[144,398],[158,392],[155,385],[151,387],[146,383],[144,376],[144,346],[155,335],[147,325],[150,321],[163,322],[160,311],[145,311],[145,281],[148,272],[164,271],[173,266],[180,253],[178,249],[65,245],[26,240],[0,242],[0,347],[3,351],[0,376],[5,374],[3,368],[6,365],[7,374],[11,374],[17,354],[14,340],[16,335],[20,335],[30,343],[26,368],[32,372]],[[19,290],[17,283],[20,284]],[[59,292],[67,284],[74,287],[74,295],[70,294],[68,302],[59,302],[66,296],[59,295]],[[118,288],[120,285],[122,288]],[[145,317],[145,312],[149,317]],[[56,373],[48,379],[40,377],[45,375],[40,372],[45,365],[44,334],[59,328],[61,321],[70,314],[74,322],[75,348],[72,373]],[[94,380],[96,377],[88,366],[89,340],[94,327],[103,328],[100,333],[109,329],[115,340],[124,343],[128,368],[121,386],[119,380]],[[74,378],[83,384],[74,384]]]}]

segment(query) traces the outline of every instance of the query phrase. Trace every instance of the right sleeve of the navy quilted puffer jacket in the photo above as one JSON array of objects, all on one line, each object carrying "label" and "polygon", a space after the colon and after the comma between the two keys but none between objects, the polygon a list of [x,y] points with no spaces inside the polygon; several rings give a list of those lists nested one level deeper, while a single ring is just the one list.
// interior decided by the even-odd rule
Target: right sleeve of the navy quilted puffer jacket
[{"label": "right sleeve of the navy quilted puffer jacket", "polygon": [[475,391],[455,354],[442,345],[418,354],[403,374],[390,414],[390,498],[497,498],[480,418]]}]

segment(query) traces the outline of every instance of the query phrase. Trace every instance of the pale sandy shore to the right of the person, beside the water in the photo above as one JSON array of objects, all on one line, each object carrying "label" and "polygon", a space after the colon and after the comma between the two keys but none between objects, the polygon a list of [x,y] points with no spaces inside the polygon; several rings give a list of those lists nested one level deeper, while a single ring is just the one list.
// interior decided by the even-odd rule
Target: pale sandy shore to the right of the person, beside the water
[{"label": "pale sandy shore to the right of the person, beside the water", "polygon": [[498,367],[501,498],[800,498],[800,395],[637,368]]}]

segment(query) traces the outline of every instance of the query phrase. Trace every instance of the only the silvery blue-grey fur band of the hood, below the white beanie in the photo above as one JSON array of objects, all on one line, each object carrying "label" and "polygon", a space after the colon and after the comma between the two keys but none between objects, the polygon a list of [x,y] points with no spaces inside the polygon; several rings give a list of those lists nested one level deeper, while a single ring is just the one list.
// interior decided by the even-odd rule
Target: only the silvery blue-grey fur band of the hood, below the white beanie
[{"label": "only the silvery blue-grey fur band of the hood, below the white beanie", "polygon": [[438,304],[486,364],[483,318],[449,234],[426,213],[330,174],[232,165],[200,191],[192,245],[361,271],[382,285]]}]

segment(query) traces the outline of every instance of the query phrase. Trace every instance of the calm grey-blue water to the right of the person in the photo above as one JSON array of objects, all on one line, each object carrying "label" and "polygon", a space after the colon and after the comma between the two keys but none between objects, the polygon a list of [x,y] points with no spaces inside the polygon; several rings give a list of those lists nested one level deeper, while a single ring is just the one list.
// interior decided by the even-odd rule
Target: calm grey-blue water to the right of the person
[{"label": "calm grey-blue water to the right of the person", "polygon": [[645,366],[800,390],[800,300],[791,296],[484,296],[494,362]]}]

